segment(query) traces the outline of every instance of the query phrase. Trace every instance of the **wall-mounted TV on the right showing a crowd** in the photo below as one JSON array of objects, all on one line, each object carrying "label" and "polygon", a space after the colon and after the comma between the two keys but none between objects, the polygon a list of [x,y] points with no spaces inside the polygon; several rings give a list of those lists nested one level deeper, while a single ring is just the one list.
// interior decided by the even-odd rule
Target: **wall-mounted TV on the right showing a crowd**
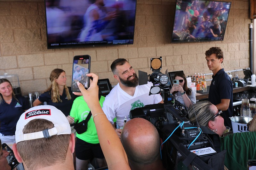
[{"label": "wall-mounted TV on the right showing a crowd", "polygon": [[222,41],[231,2],[176,0],[172,42]]}]

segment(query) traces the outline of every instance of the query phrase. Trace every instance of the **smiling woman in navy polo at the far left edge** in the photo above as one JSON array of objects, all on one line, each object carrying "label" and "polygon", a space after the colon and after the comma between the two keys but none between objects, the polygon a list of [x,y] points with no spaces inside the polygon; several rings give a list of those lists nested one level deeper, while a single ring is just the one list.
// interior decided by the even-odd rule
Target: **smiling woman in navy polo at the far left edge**
[{"label": "smiling woman in navy polo at the far left edge", "polygon": [[0,79],[0,139],[3,143],[15,143],[16,124],[20,115],[28,109],[28,100],[15,96],[11,82]]}]

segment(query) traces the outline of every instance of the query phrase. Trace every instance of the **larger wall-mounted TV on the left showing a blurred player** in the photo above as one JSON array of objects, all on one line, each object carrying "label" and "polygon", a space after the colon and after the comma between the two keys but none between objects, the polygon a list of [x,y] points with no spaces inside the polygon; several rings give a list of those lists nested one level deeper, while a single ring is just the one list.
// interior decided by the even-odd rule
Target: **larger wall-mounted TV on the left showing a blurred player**
[{"label": "larger wall-mounted TV on the left showing a blurred player", "polygon": [[45,0],[47,48],[133,44],[136,0]]}]

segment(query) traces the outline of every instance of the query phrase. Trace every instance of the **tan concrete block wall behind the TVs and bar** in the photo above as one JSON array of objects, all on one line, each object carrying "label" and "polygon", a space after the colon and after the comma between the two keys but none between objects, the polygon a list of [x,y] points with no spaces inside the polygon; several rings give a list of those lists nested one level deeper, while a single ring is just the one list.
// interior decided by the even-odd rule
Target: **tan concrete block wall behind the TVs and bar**
[{"label": "tan concrete block wall behind the TVs and bar", "polygon": [[[171,43],[175,0],[137,0],[133,45],[47,49],[44,0],[0,1],[0,75],[19,75],[21,90],[43,92],[50,85],[50,72],[66,71],[71,85],[75,55],[92,57],[92,72],[117,81],[110,69],[117,58],[126,58],[136,72],[151,74],[150,58],[163,57],[162,70],[183,70],[188,75],[211,73],[204,52],[210,47],[224,51],[223,68],[249,67],[249,0],[230,0],[231,9],[224,41]],[[242,71],[237,73],[243,77]],[[208,79],[211,76],[207,77]]]}]

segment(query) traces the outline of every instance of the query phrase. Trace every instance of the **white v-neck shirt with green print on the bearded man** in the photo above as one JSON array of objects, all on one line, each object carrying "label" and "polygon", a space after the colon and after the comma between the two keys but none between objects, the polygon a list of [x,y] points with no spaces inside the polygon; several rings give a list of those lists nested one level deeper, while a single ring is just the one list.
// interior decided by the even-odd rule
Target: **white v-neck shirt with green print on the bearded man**
[{"label": "white v-neck shirt with green print on the bearded man", "polygon": [[151,82],[148,82],[146,85],[138,85],[135,88],[134,95],[131,96],[124,92],[118,83],[106,96],[102,107],[109,122],[113,124],[113,119],[116,117],[116,124],[122,127],[125,116],[127,121],[130,120],[131,110],[161,102],[162,96],[160,94],[148,95],[151,86],[153,86]]}]

